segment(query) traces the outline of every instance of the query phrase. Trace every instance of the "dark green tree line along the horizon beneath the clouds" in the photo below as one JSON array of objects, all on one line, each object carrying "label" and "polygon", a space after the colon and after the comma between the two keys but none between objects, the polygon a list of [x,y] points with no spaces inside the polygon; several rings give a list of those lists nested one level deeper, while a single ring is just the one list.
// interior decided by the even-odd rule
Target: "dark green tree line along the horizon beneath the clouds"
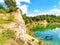
[{"label": "dark green tree line along the horizon beneath the clouds", "polygon": [[48,23],[54,23],[54,22],[60,23],[60,16],[55,15],[39,15],[34,17],[28,17],[26,16],[26,14],[24,14],[23,19],[25,20],[26,24],[44,20],[46,20]]}]

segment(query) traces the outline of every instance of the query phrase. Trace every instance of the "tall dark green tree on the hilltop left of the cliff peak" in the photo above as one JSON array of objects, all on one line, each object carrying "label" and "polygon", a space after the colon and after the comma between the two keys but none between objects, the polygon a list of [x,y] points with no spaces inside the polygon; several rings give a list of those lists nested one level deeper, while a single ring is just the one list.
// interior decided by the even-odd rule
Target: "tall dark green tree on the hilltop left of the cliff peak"
[{"label": "tall dark green tree on the hilltop left of the cliff peak", "polygon": [[7,5],[8,12],[16,11],[16,1],[15,0],[4,0]]}]

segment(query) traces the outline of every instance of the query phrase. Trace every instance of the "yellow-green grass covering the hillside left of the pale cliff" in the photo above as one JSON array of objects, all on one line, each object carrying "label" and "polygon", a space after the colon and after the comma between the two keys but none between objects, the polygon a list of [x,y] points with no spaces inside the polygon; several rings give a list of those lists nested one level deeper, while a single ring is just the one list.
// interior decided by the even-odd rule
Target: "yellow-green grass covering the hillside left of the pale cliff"
[{"label": "yellow-green grass covering the hillside left of the pale cliff", "polygon": [[14,17],[11,15],[11,12],[7,13],[4,10],[0,9],[0,14],[2,14],[0,16],[0,29],[2,29],[2,33],[0,33],[0,45],[5,45],[6,42],[8,42],[8,40],[11,39],[13,40],[12,42],[9,42],[11,45],[16,45],[15,43],[19,45],[24,44],[19,39],[16,39],[15,33],[12,30],[3,27],[4,26],[3,24],[8,24],[15,21]]}]

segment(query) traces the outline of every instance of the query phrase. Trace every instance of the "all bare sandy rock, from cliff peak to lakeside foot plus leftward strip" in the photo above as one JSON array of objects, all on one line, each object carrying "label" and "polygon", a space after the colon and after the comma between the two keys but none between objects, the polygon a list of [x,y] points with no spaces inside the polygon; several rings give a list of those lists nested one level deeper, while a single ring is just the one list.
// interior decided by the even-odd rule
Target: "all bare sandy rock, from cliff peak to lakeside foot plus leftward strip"
[{"label": "all bare sandy rock, from cliff peak to lakeside foot plus leftward strip", "polygon": [[[4,15],[4,14],[2,14],[2,15]],[[2,32],[3,29],[10,29],[10,30],[14,31],[16,38],[20,39],[21,41],[24,41],[24,45],[30,45],[30,44],[38,45],[39,41],[37,39],[26,34],[25,22],[22,18],[22,13],[19,8],[14,12],[7,13],[6,15],[7,15],[7,17],[9,17],[8,15],[12,16],[14,18],[14,21],[12,21],[10,23],[0,24],[0,28],[1,28],[0,32]],[[4,18],[7,20],[7,22],[9,21],[8,18],[6,18],[5,16],[3,16],[3,19]],[[32,39],[34,41],[32,41]]]}]

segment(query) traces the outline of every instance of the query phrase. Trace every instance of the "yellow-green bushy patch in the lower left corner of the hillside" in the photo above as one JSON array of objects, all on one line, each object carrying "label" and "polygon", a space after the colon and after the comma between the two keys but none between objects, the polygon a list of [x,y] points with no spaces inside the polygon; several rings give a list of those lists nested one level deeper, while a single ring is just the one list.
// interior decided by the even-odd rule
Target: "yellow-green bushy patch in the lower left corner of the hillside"
[{"label": "yellow-green bushy patch in the lower left corner of the hillside", "polygon": [[0,45],[4,45],[9,38],[15,38],[14,32],[10,29],[4,30],[4,32],[0,34]]}]

